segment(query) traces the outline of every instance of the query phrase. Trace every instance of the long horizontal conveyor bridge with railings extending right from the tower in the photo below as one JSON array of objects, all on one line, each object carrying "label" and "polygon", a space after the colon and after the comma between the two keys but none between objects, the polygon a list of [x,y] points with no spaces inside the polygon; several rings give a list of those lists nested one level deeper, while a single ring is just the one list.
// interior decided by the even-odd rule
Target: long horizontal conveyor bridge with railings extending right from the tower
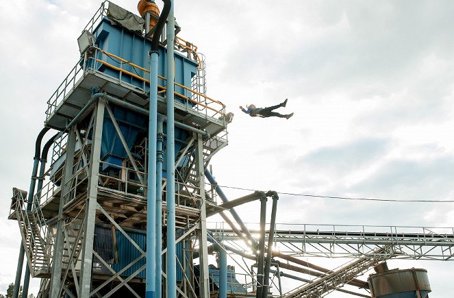
[{"label": "long horizontal conveyor bridge with railings extending right from the tower", "polygon": [[[258,224],[247,224],[258,236]],[[207,223],[208,229],[216,227]],[[216,239],[240,241],[231,229],[215,229]],[[325,258],[374,258],[370,251],[392,245],[395,258],[454,260],[454,227],[406,227],[377,225],[276,225],[273,241],[281,253]],[[386,252],[383,252],[386,253]]]}]

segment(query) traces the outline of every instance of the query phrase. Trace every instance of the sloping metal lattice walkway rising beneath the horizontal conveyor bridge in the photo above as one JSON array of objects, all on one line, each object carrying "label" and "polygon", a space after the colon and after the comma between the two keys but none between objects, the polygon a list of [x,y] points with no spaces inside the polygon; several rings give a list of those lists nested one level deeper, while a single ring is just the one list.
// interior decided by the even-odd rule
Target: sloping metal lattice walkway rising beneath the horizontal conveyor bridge
[{"label": "sloping metal lattice walkway rising beneath the horizontal conveyor bridge", "polygon": [[387,253],[385,256],[360,258],[359,260],[349,262],[346,265],[341,266],[340,269],[332,271],[328,275],[320,277],[318,280],[314,280],[314,282],[310,284],[305,284],[295,288],[294,290],[283,295],[283,297],[323,297],[323,295],[331,293],[333,290],[336,290],[336,288],[344,286],[344,284],[353,280],[357,277],[357,275],[364,273],[370,269],[370,267],[376,266],[379,262],[392,258],[394,255],[394,253],[392,253],[392,245],[387,245],[385,247],[370,251],[370,254],[379,255],[384,252]]}]

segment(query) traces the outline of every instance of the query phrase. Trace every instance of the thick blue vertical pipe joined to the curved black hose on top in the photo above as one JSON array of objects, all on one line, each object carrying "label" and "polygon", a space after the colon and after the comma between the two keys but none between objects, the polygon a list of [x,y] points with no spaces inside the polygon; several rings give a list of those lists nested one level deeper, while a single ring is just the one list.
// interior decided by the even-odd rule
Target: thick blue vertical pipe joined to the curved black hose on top
[{"label": "thick blue vertical pipe joined to the curved black hose on top", "polygon": [[[147,27],[148,28],[148,27]],[[147,179],[147,270],[145,297],[155,296],[156,264],[156,133],[157,133],[157,57],[151,51],[150,59],[150,112],[148,123],[148,179]]]}]

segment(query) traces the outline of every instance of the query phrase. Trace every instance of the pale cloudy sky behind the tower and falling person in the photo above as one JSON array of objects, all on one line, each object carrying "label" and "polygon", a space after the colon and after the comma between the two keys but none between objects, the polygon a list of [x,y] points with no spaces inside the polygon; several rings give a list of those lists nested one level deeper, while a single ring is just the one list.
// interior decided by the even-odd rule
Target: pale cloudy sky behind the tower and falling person
[{"label": "pale cloudy sky behind the tower and falling person", "polygon": [[[17,223],[7,219],[12,187],[28,189],[46,101],[77,62],[77,37],[100,3],[0,1],[0,293],[14,281],[20,245]],[[136,1],[114,3],[136,12]],[[453,200],[453,15],[454,2],[441,0],[175,0],[179,36],[205,55],[207,95],[235,113],[229,145],[211,162],[218,183]],[[251,118],[239,109],[283,99],[287,106],[278,111],[294,112],[289,120]],[[224,190],[229,199],[249,193]],[[249,205],[238,212],[257,222],[258,203]],[[277,222],[453,227],[454,203],[280,195]],[[454,292],[451,262],[388,264],[427,269],[431,298]],[[38,286],[33,280],[31,293]]]}]

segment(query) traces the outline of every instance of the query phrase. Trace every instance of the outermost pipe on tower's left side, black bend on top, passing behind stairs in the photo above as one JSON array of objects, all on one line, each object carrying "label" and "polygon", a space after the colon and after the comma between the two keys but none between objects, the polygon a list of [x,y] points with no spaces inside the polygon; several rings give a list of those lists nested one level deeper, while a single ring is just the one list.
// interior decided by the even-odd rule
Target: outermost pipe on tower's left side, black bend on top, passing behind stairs
[{"label": "outermost pipe on tower's left side, black bend on top, passing behind stairs", "polygon": [[[41,142],[42,138],[44,138],[45,134],[49,131],[49,127],[44,127],[41,129],[40,133],[36,137],[35,142],[35,156],[33,158],[33,168],[31,169],[31,179],[30,179],[30,186],[28,190],[28,197],[27,197],[27,211],[31,210],[31,203],[33,202],[33,195],[35,191],[36,185],[36,174],[38,173],[38,163],[40,162],[40,153],[41,153]],[[21,286],[21,277],[22,277],[22,267],[24,262],[24,253],[25,249],[23,244],[21,243],[21,247],[19,248],[19,256],[17,260],[17,269],[16,269],[16,279],[14,280],[14,289],[12,293],[13,298],[18,298],[19,295],[19,288]]]}]

